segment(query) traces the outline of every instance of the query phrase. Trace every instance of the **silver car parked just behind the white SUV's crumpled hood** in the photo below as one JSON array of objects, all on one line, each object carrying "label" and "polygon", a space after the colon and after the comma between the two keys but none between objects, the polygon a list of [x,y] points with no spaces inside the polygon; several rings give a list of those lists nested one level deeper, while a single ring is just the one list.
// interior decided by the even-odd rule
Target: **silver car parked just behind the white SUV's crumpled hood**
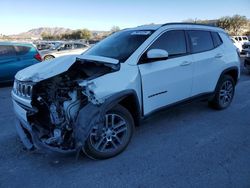
[{"label": "silver car parked just behind the white SUV's crumpled hood", "polygon": [[55,44],[49,50],[42,50],[40,54],[43,60],[50,60],[63,55],[79,55],[88,49],[88,46],[80,42],[61,42]]}]

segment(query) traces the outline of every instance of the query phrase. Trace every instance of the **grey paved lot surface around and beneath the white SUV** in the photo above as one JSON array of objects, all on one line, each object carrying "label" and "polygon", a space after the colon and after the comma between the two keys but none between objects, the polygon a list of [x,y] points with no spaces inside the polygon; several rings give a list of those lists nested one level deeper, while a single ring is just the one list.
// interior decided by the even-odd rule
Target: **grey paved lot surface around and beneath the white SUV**
[{"label": "grey paved lot surface around and beneath the white SUV", "polygon": [[10,87],[0,88],[0,187],[250,187],[250,75],[242,71],[231,107],[194,102],[162,111],[136,128],[119,156],[23,149]]}]

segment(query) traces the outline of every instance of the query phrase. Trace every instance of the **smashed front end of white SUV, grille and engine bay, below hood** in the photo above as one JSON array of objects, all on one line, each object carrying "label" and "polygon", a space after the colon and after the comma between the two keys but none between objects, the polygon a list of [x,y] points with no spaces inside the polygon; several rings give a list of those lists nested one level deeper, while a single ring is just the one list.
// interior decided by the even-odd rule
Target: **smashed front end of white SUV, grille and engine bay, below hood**
[{"label": "smashed front end of white SUV, grille and engine bay, below hood", "polygon": [[63,153],[82,148],[92,127],[101,126],[106,111],[122,97],[97,98],[91,80],[117,71],[119,66],[76,58],[68,70],[50,78],[36,74],[37,82],[32,77],[16,80],[12,97],[24,145]]}]

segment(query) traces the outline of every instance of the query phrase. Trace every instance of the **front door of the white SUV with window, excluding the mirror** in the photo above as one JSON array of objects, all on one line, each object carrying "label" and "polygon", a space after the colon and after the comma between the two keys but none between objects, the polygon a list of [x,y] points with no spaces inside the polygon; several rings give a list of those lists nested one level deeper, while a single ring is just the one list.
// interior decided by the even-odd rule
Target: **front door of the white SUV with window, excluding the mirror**
[{"label": "front door of the white SUV with window, excluding the mirror", "polygon": [[192,91],[193,59],[187,48],[185,32],[167,31],[150,49],[166,50],[169,57],[167,60],[139,62],[144,115],[184,100],[191,96]]}]

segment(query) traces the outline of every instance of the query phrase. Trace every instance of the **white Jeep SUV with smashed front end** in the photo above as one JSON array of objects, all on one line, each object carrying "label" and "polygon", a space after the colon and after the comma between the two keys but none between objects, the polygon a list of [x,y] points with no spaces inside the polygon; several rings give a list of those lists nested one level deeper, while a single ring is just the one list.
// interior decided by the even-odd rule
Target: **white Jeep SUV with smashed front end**
[{"label": "white Jeep SUV with smashed front end", "polygon": [[19,136],[28,149],[96,159],[122,152],[134,126],[159,109],[198,97],[227,108],[240,77],[225,31],[197,24],[125,29],[83,55],[51,61],[15,77]]}]

